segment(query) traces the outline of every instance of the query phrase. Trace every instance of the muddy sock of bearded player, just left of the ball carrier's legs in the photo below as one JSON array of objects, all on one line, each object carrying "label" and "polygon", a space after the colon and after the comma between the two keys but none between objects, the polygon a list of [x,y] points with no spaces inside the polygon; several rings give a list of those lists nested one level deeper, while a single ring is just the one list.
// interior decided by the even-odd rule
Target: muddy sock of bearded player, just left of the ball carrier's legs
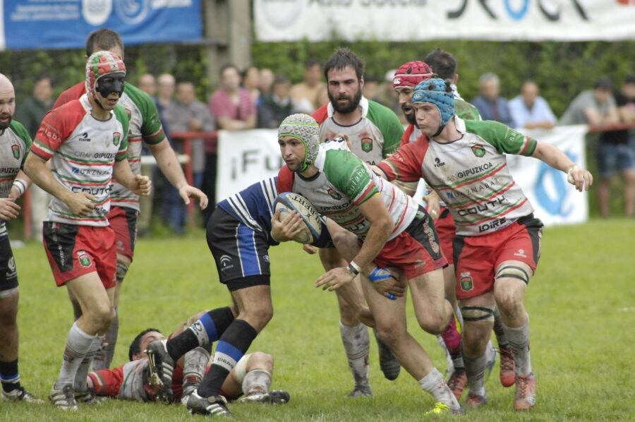
[{"label": "muddy sock of bearded player, just left of the ball carrier's legs", "polygon": [[349,368],[353,373],[355,386],[370,386],[370,365],[368,364],[368,350],[370,339],[368,330],[361,322],[358,325],[344,325],[339,322],[341,342],[344,344]]}]

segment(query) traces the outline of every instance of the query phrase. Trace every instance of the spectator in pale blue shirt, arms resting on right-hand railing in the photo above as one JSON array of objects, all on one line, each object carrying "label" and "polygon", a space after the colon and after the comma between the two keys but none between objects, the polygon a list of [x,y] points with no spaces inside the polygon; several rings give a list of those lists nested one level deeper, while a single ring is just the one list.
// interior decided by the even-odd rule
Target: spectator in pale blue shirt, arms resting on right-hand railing
[{"label": "spectator in pale blue shirt, arms resting on right-hand railing", "polygon": [[538,84],[533,80],[526,80],[521,93],[509,101],[509,113],[512,114],[515,128],[543,128],[555,126],[556,117],[549,107],[549,103],[539,96]]}]

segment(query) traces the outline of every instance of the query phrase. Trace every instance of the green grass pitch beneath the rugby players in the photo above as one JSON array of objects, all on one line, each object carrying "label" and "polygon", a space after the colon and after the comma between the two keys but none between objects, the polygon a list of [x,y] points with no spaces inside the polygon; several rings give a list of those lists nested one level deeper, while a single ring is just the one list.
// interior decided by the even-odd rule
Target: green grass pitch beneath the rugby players
[{"label": "green grass pitch beneath the rugby players", "polygon": [[[71,307],[66,289],[54,286],[44,250],[28,243],[14,250],[20,278],[20,373],[23,384],[45,398],[56,378]],[[204,308],[225,306],[229,294],[217,281],[205,237],[141,239],[123,285],[119,344],[114,363],[123,363],[128,345],[145,327],[169,332]],[[252,350],[276,358],[273,387],[291,392],[285,406],[230,404],[245,421],[416,421],[433,400],[405,371],[385,380],[371,343],[374,397],[347,399],[352,378],[339,338],[334,294],[313,287],[320,275],[317,257],[286,243],[270,251],[274,318]],[[635,418],[633,349],[635,325],[635,221],[593,220],[574,227],[545,229],[543,258],[531,282],[526,306],[531,315],[532,363],[538,404],[527,414],[512,410],[513,387],[504,389],[497,371],[487,383],[490,403],[462,419],[502,421],[604,421]],[[444,356],[434,337],[413,335],[437,367]],[[496,376],[493,376],[496,375]],[[451,417],[447,417],[450,419]],[[440,418],[444,420],[444,418]],[[108,401],[65,414],[42,405],[0,402],[0,421],[179,421],[196,420],[183,406]],[[202,420],[202,419],[201,419]]]}]

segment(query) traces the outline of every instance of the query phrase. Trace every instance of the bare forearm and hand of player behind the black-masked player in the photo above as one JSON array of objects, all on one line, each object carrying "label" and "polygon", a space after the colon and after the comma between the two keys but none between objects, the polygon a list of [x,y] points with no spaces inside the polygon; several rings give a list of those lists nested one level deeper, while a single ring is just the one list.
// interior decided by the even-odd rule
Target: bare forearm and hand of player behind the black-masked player
[{"label": "bare forearm and hand of player behind the black-masked player", "polygon": [[200,189],[188,184],[185,174],[183,174],[183,169],[181,169],[181,164],[179,164],[179,159],[176,157],[176,153],[168,140],[164,139],[157,144],[146,143],[146,146],[157,160],[159,169],[161,169],[166,179],[172,186],[179,189],[179,195],[183,202],[187,205],[190,203],[190,198],[198,198],[200,209],[205,210],[208,201],[207,195],[202,193]]}]

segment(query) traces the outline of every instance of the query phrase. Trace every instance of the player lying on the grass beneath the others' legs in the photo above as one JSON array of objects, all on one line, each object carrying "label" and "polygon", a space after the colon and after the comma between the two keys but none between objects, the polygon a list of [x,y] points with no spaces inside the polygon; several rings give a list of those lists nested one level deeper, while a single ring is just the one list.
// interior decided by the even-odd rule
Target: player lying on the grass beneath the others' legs
[{"label": "player lying on the grass beneath the others' legs", "polygon": [[[201,312],[183,322],[169,337],[186,330]],[[88,374],[88,388],[99,397],[135,400],[138,402],[162,401],[162,384],[154,382],[156,371],[147,358],[148,344],[164,340],[164,335],[155,328],[147,328],[133,340],[128,350],[130,361],[114,369],[102,369]],[[273,374],[273,356],[255,351],[246,354],[229,373],[222,386],[222,394],[229,400],[283,404],[289,402],[289,393],[284,390],[270,391]],[[188,351],[176,362],[171,378],[173,397],[171,402],[186,404],[190,394],[198,387],[210,366],[210,351],[197,347]]]}]

